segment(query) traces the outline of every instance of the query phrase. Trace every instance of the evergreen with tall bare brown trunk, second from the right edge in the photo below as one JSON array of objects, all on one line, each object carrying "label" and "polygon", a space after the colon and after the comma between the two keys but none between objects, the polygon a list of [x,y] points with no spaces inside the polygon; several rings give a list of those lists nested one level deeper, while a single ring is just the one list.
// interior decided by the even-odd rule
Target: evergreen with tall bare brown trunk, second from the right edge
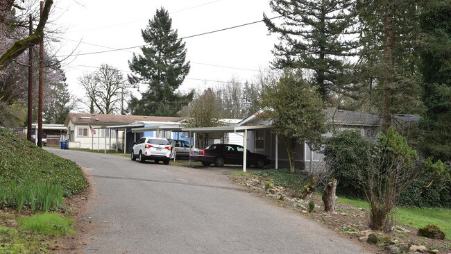
[{"label": "evergreen with tall bare brown trunk, second from the right edge", "polygon": [[419,113],[418,0],[357,0],[362,83],[371,85],[372,103],[388,130],[393,113]]}]

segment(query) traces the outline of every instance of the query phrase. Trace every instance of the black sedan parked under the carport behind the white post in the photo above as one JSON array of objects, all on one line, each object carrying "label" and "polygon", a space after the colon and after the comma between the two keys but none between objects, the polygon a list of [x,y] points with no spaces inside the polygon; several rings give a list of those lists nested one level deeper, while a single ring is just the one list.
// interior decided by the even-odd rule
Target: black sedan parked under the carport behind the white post
[{"label": "black sedan parked under the carport behind the white post", "polygon": [[[224,164],[243,164],[243,146],[237,144],[212,144],[206,149],[190,156],[191,160],[202,162],[204,166],[214,164],[222,167]],[[271,163],[269,157],[259,153],[247,151],[246,164],[262,168]]]}]

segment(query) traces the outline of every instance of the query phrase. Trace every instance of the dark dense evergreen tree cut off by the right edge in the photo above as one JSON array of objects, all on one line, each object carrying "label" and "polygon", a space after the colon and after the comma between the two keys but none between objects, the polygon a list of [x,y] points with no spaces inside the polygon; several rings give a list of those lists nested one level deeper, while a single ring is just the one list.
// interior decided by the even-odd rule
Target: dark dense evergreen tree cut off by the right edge
[{"label": "dark dense evergreen tree cut off by the right edge", "polygon": [[425,1],[420,15],[426,155],[451,160],[451,1]]}]

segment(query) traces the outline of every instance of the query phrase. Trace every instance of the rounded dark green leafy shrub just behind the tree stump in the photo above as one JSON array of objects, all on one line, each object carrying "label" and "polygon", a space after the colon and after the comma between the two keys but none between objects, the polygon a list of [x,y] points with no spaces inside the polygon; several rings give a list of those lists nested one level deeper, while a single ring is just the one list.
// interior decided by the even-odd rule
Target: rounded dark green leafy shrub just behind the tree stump
[{"label": "rounded dark green leafy shrub just behind the tree stump", "polygon": [[332,170],[331,178],[339,181],[337,194],[363,198],[362,183],[366,180],[368,149],[371,144],[354,130],[345,130],[327,140],[325,162]]}]

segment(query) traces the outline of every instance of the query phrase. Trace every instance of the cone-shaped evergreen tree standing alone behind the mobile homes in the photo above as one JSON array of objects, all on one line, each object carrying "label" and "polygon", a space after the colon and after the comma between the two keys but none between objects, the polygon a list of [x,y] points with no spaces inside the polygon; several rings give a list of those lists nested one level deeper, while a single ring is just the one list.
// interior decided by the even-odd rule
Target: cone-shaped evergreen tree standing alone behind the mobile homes
[{"label": "cone-shaped evergreen tree standing alone behind the mobile homes", "polygon": [[142,55],[133,54],[128,66],[133,74],[130,84],[148,84],[142,99],[132,98],[129,109],[133,115],[176,116],[183,105],[192,100],[193,92],[182,95],[176,90],[189,73],[185,62],[185,42],[178,40],[177,31],[171,28],[172,19],[164,8],[155,13],[142,37],[148,46],[141,48]]}]

